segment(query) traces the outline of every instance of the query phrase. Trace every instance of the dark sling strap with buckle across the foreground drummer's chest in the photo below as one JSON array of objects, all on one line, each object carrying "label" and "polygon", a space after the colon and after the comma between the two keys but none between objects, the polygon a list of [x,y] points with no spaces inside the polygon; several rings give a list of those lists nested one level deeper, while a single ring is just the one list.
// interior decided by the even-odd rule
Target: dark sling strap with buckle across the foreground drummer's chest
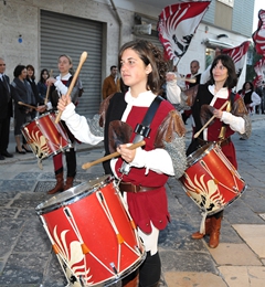
[{"label": "dark sling strap with buckle across the foreground drummer's chest", "polygon": [[[141,124],[137,124],[135,128],[135,132],[137,134],[132,140],[132,144],[141,141],[144,138],[147,138],[151,131],[150,125],[151,121],[158,110],[158,107],[160,106],[163,98],[161,96],[157,96],[150,107],[148,108],[145,118],[142,119]],[[130,166],[127,162],[123,162],[120,167],[120,172],[124,174],[128,174],[130,171]]]}]

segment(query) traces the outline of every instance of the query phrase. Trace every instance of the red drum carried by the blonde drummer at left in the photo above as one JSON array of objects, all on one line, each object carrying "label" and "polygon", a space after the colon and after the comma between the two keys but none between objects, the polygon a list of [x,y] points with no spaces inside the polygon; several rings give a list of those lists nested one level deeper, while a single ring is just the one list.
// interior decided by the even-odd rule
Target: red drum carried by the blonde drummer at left
[{"label": "red drum carried by the blonde drummer at left", "polygon": [[39,159],[56,155],[71,147],[61,123],[55,124],[54,113],[44,114],[21,127],[21,131]]}]

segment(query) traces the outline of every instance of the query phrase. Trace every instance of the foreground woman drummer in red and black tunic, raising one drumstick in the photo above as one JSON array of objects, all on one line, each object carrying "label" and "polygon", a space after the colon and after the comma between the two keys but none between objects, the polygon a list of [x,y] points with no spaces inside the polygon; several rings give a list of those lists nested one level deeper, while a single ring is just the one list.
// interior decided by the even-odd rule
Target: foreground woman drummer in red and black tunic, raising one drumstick
[{"label": "foreground woman drummer in red and black tunic, raising one drumstick", "polygon": [[[106,162],[105,172],[123,179],[119,189],[147,252],[139,268],[139,284],[138,275],[131,274],[124,279],[123,286],[155,287],[159,284],[161,272],[158,235],[169,220],[165,184],[169,176],[180,178],[186,169],[184,125],[174,107],[161,100],[151,121],[150,134],[145,138],[145,149],[128,149],[127,142],[132,142],[137,135],[134,131],[136,126],[141,124],[149,106],[161,92],[167,64],[157,46],[139,40],[120,49],[119,71],[129,89],[103,102],[100,120],[97,118],[95,125],[93,120],[88,125],[85,117],[75,113],[68,97],[62,96],[59,110],[63,110],[62,119],[78,140],[95,145],[104,139],[106,155],[110,152],[110,147],[120,153],[120,158]],[[104,126],[102,130],[98,123]],[[115,126],[120,127],[120,135],[132,131],[128,140],[119,141],[117,146],[114,145],[114,139],[117,139],[114,137]],[[119,128],[117,131],[120,131]]]}]

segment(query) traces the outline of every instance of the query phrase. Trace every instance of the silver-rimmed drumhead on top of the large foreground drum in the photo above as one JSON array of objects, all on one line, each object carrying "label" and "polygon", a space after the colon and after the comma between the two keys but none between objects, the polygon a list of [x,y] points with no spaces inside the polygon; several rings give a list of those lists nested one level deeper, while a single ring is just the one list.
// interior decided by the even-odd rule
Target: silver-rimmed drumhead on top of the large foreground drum
[{"label": "silver-rimmed drumhead on top of the large foreground drum", "polygon": [[88,194],[95,192],[99,188],[107,185],[110,181],[113,181],[113,177],[109,174],[96,178],[95,180],[89,180],[87,182],[83,182],[74,188],[63,191],[57,195],[52,196],[51,199],[40,203],[35,211],[38,215],[42,215],[49,213],[51,211],[61,209],[62,206],[66,206],[71,203],[74,203]]}]

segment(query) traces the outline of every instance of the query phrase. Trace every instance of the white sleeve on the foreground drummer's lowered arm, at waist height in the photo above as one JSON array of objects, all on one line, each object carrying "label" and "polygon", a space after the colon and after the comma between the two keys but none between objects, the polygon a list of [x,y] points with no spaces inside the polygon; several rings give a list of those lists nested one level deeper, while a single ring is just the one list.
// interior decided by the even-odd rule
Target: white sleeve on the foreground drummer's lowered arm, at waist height
[{"label": "white sleeve on the foreground drummer's lowered arm, at waist height", "polygon": [[136,149],[135,159],[130,162],[131,167],[146,168],[146,174],[149,170],[157,173],[174,176],[172,160],[165,149],[153,149],[146,151],[141,148]]}]

